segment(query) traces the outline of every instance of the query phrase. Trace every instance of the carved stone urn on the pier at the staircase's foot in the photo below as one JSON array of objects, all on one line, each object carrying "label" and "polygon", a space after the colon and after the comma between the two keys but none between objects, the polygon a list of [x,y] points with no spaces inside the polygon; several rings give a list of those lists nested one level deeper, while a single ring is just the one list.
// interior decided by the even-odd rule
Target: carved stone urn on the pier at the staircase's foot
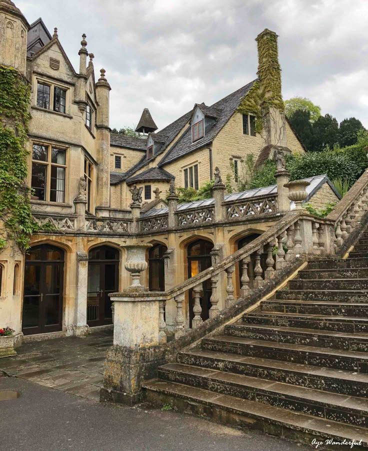
[{"label": "carved stone urn on the pier at the staircase's foot", "polygon": [[121,247],[126,251],[125,269],[131,273],[131,285],[124,291],[148,291],[148,288],[140,285],[140,273],[148,268],[148,263],[145,261],[145,253],[152,245],[137,243]]}]

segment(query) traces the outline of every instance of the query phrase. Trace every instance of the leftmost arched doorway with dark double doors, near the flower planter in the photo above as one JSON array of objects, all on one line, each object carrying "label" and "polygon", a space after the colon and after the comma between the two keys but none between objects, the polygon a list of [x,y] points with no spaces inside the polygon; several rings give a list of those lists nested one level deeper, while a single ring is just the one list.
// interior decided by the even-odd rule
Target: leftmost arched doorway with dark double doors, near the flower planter
[{"label": "leftmost arched doorway with dark double doors, near the flower planter", "polygon": [[64,254],[51,245],[31,248],[25,255],[22,332],[61,330]]}]

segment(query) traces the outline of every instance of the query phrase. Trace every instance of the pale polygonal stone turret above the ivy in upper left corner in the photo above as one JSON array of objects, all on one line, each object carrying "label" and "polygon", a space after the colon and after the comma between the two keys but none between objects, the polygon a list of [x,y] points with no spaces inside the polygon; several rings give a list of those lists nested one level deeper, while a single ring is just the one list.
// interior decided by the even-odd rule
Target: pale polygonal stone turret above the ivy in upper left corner
[{"label": "pale polygonal stone turret above the ivy in upper left corner", "polygon": [[0,64],[25,75],[29,24],[10,0],[0,0]]}]

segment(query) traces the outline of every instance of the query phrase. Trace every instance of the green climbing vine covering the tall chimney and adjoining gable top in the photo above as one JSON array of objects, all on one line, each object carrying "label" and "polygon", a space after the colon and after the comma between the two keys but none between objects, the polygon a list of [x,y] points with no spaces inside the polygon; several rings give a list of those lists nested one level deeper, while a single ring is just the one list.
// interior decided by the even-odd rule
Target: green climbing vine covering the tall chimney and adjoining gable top
[{"label": "green climbing vine covering the tall chimney and adjoining gable top", "polygon": [[277,35],[265,30],[256,39],[258,46],[258,79],[237,108],[239,113],[255,116],[255,131],[262,131],[262,116],[271,107],[283,111],[281,71],[277,57]]}]

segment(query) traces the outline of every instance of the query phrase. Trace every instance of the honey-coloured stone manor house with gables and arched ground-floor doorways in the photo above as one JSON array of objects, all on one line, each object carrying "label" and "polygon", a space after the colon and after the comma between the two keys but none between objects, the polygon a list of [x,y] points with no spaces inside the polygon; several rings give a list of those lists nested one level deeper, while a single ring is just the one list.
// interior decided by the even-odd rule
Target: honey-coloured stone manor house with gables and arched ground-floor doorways
[{"label": "honey-coloured stone manor house with gables and arched ground-floor doorways", "polygon": [[[186,204],[177,203],[175,188],[198,189],[215,171],[222,179],[230,174],[235,186],[247,155],[259,167],[274,149],[305,151],[276,103],[261,117],[259,106],[247,110],[268,71],[275,74],[273,89],[281,90],[274,32],[256,38],[253,81],[244,80],[213,105],[198,99],[160,130],[144,108],[140,119],[137,113],[139,137],[111,133],[108,70],[107,76],[104,69],[95,74],[86,36],[79,50],[75,43],[78,68],[61,41],[56,28],[50,32],[42,19],[29,25],[10,0],[0,0],[0,64],[15,68],[30,86],[27,182],[32,214],[45,229],[31,237],[25,255],[14,246],[0,253],[0,326],[13,328],[19,343],[112,327],[109,294],[130,284],[122,245],[152,245],[142,275],[151,292],[168,290],[241,249],[278,220],[281,185],[226,193],[219,178],[213,198]],[[262,52],[266,45],[270,51]],[[265,98],[273,94],[267,91]],[[316,206],[338,200],[324,175],[309,182],[307,200]],[[263,269],[266,257],[259,255]],[[235,265],[229,272],[235,297],[242,271]],[[247,271],[252,283],[251,266]],[[194,297],[201,318],[208,318],[212,288],[206,281],[199,294],[185,295],[185,328],[192,327]],[[167,335],[174,331],[175,311],[168,302]]]}]

